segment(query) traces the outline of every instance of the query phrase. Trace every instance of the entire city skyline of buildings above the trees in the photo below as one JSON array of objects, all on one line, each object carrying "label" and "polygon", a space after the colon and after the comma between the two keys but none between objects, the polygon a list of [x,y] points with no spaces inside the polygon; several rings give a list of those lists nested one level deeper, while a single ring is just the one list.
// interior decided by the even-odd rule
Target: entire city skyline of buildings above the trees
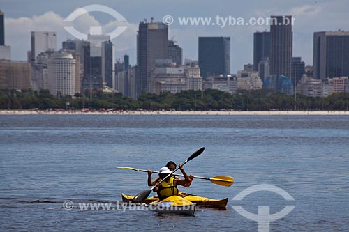
[{"label": "entire city skyline of buildings above the trees", "polygon": [[[141,93],[207,88],[229,93],[272,88],[313,96],[349,91],[349,32],[315,32],[311,67],[292,56],[292,24],[284,23],[292,22],[292,16],[272,19],[276,23],[270,31],[253,35],[253,64],[235,75],[230,72],[230,37],[199,37],[198,61],[183,62],[183,49],[168,39],[168,26],[153,19],[139,24],[136,65],[128,55],[123,61],[114,59],[109,36],[97,33],[86,41],[66,40],[58,50],[53,31],[32,31],[27,62],[11,61],[0,12],[0,89],[48,89],[57,96],[91,96],[92,89],[101,89],[134,99]],[[337,88],[342,80],[343,88]]]}]

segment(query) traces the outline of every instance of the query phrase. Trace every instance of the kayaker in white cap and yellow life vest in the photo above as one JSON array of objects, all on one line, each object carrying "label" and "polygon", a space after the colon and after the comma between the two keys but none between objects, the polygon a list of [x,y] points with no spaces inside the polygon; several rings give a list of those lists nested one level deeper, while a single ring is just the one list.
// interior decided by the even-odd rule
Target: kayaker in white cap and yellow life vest
[{"label": "kayaker in white cap and yellow life vest", "polygon": [[[181,173],[183,173],[184,180],[174,178],[173,176],[169,176],[161,184],[159,184],[159,182],[163,178],[168,176],[168,174],[171,173],[171,171],[170,171],[170,169],[168,169],[168,167],[162,167],[160,169],[160,171],[158,173],[159,178],[157,179],[157,181],[155,183],[156,187],[153,190],[154,192],[157,192],[158,198],[160,201],[162,201],[163,199],[165,199],[168,196],[178,194],[178,192],[179,192],[178,188],[177,188],[178,185],[186,186],[186,184],[191,182],[191,179],[189,179],[188,175],[184,171],[183,166],[181,164],[179,164],[179,167],[180,167],[179,169],[181,170]],[[151,170],[149,170],[149,171],[150,172],[148,172],[148,177],[150,178]]]}]

